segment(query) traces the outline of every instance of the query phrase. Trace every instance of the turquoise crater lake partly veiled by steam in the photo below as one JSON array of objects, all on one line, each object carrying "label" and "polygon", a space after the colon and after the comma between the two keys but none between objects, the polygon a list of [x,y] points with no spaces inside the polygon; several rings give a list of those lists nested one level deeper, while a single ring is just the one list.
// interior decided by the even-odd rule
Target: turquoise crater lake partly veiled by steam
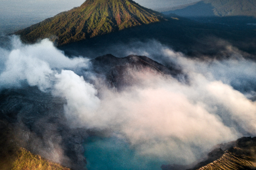
[{"label": "turquoise crater lake partly veiled by steam", "polygon": [[157,170],[167,162],[139,155],[129,143],[117,137],[91,137],[85,143],[88,170]]}]

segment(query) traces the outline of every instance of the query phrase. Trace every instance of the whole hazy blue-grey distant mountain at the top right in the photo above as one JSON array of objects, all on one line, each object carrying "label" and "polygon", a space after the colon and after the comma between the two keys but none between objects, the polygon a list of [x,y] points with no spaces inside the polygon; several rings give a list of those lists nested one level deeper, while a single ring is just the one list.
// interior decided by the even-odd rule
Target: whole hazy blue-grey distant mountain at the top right
[{"label": "whole hazy blue-grey distant mountain at the top right", "polygon": [[204,0],[196,4],[181,6],[164,14],[177,14],[182,17],[256,17],[256,1],[254,0]]}]

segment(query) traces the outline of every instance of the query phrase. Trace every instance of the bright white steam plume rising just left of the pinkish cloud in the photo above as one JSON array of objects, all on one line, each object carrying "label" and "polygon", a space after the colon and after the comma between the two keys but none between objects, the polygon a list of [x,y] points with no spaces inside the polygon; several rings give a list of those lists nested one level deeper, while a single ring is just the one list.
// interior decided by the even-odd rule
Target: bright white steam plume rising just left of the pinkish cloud
[{"label": "bright white steam plume rising just left of the pinkish cloud", "polygon": [[55,77],[57,83],[53,94],[66,99],[65,115],[71,126],[91,128],[98,121],[98,115],[95,115],[100,106],[97,90],[70,70],[62,70]]}]

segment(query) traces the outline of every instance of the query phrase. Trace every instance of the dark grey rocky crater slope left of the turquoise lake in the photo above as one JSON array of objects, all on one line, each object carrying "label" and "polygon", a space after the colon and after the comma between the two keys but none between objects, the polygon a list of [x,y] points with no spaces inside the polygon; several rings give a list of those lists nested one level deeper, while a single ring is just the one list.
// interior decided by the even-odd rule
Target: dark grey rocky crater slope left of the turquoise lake
[{"label": "dark grey rocky crater slope left of the turquoise lake", "polygon": [[82,143],[88,135],[85,129],[69,128],[63,104],[65,100],[36,87],[1,91],[0,130],[9,135],[1,142],[0,156],[6,155],[3,148],[17,146],[72,169],[84,169]]}]

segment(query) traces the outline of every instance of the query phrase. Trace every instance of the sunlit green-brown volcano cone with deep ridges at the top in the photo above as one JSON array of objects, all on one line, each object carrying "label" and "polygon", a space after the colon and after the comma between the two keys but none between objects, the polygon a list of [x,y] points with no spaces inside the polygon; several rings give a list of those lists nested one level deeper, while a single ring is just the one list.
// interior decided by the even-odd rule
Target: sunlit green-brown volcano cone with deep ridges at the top
[{"label": "sunlit green-brown volcano cone with deep ridges at the top", "polygon": [[87,0],[78,8],[15,32],[27,42],[50,38],[58,45],[163,21],[162,14],[132,0]]}]

